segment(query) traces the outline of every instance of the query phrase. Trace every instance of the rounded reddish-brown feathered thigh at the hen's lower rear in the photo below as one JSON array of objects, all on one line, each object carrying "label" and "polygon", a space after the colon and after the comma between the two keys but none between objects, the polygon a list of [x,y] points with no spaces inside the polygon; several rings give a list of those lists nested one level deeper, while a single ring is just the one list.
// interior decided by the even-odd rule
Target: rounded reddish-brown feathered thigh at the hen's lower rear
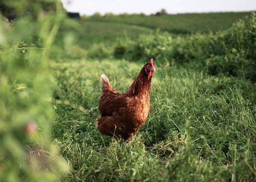
[{"label": "rounded reddish-brown feathered thigh at the hen's lower rear", "polygon": [[102,116],[95,123],[95,128],[108,136],[123,137],[123,123],[113,116]]}]

